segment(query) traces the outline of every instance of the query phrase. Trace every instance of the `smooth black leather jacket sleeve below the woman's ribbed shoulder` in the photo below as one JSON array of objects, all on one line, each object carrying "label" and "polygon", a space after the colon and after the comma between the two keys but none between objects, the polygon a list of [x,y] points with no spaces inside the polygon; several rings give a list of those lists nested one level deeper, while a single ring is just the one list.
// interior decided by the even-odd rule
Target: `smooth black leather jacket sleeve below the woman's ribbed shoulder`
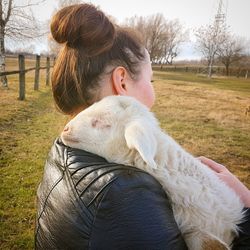
[{"label": "smooth black leather jacket sleeve below the woman's ribbed shoulder", "polygon": [[159,183],[124,171],[99,203],[89,249],[187,249]]}]

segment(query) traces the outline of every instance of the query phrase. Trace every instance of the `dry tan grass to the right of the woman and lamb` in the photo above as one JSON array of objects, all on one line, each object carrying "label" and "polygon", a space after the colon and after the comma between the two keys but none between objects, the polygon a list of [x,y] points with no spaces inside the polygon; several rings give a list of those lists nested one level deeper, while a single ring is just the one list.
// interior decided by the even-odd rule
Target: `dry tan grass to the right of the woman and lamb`
[{"label": "dry tan grass to the right of the woman and lamb", "polygon": [[[250,81],[245,84],[250,89]],[[161,76],[155,90],[162,127],[189,152],[225,164],[250,187],[250,94]]]}]

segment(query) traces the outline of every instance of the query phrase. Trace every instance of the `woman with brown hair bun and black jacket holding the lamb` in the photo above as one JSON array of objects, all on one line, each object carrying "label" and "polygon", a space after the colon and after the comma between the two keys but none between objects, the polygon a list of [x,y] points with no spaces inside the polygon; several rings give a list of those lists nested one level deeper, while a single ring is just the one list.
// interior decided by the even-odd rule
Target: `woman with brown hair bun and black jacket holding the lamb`
[{"label": "woman with brown hair bun and black jacket holding the lamb", "polygon": [[[135,33],[115,27],[89,4],[56,13],[51,33],[63,44],[52,75],[62,112],[75,116],[107,95],[133,96],[153,105],[149,55]],[[218,165],[201,160],[212,168]],[[236,180],[232,188],[240,185]],[[245,197],[249,191],[244,188],[239,193]],[[235,249],[250,242],[249,220],[241,226]],[[60,138],[38,188],[35,244],[36,249],[187,249],[169,199],[152,176],[68,148]]]}]

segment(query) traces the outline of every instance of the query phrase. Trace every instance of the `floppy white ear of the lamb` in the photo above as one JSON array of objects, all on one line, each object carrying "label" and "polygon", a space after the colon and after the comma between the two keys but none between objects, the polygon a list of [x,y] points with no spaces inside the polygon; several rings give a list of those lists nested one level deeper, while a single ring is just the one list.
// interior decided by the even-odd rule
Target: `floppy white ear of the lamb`
[{"label": "floppy white ear of the lamb", "polygon": [[131,122],[125,128],[125,139],[128,148],[137,150],[148,166],[157,168],[154,161],[157,145],[152,131],[138,121]]}]

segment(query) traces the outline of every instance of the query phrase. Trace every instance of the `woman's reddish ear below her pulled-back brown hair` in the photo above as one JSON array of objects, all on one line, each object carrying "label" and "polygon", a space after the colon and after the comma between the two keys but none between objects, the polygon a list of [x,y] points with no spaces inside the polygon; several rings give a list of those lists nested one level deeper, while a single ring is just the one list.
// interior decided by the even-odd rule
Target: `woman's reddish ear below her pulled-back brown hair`
[{"label": "woman's reddish ear below her pulled-back brown hair", "polygon": [[127,95],[128,72],[122,67],[116,67],[112,72],[112,84],[115,93]]}]

